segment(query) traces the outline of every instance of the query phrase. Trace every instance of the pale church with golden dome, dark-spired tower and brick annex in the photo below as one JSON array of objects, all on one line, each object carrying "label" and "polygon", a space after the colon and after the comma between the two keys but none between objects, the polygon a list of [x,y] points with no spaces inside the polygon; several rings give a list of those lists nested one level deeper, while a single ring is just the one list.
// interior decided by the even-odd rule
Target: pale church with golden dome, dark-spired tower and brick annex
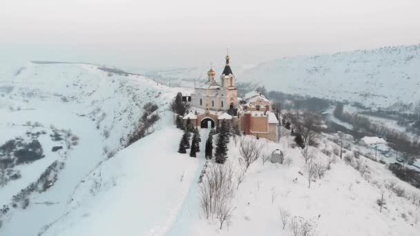
[{"label": "pale church with golden dome, dark-spired tower and brick annex", "polygon": [[216,71],[210,68],[207,82],[194,88],[190,112],[182,119],[184,122],[190,119],[198,128],[214,128],[226,120],[231,126],[237,125],[246,135],[277,141],[278,119],[271,111],[271,101],[258,90],[238,98],[229,55],[225,59],[219,81],[216,81]]}]

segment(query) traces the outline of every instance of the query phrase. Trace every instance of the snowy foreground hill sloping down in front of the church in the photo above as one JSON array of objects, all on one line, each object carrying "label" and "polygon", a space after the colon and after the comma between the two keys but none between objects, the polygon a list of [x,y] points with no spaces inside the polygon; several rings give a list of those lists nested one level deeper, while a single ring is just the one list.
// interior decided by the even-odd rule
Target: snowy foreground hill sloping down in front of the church
[{"label": "snowy foreground hill sloping down in front of the church", "polygon": [[[285,162],[258,159],[237,187],[243,169],[241,140],[235,144],[231,138],[225,166],[233,170],[233,211],[220,230],[219,220],[206,219],[200,208],[197,183],[205,166],[216,164],[209,161],[204,166],[204,141],[197,158],[177,153],[182,130],[173,126],[170,112],[163,117],[162,129],[87,175],[65,213],[42,235],[294,235],[292,219],[310,224],[314,235],[414,236],[420,230],[420,191],[394,177],[383,164],[352,157],[350,150],[340,159],[334,155],[338,146],[327,137],[310,150],[316,163],[330,162],[330,169],[319,177],[316,173],[310,188],[300,148],[292,148],[293,141],[287,138],[279,144],[260,139],[265,155],[278,148],[285,153]],[[202,140],[208,131],[201,130]],[[377,201],[382,193],[386,204],[380,212]],[[279,210],[289,214],[284,229]]]}]

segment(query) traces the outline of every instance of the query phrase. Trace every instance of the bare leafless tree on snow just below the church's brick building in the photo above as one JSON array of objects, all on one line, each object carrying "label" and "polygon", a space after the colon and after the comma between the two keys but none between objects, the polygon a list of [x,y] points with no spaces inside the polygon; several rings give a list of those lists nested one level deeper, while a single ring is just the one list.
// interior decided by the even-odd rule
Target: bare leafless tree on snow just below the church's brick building
[{"label": "bare leafless tree on snow just below the church's brick building", "polygon": [[239,153],[245,163],[245,171],[262,155],[264,146],[265,144],[261,144],[256,139],[242,138],[239,144]]}]

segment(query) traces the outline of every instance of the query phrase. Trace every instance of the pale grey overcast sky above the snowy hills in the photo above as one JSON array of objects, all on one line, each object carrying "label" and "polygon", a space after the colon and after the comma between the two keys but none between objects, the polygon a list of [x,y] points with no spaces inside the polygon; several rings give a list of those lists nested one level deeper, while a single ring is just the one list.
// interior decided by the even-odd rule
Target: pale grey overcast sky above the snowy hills
[{"label": "pale grey overcast sky above the snowy hills", "polygon": [[[420,43],[420,0],[1,0],[0,54],[115,66],[252,65]],[[3,53],[1,53],[3,51]]]}]

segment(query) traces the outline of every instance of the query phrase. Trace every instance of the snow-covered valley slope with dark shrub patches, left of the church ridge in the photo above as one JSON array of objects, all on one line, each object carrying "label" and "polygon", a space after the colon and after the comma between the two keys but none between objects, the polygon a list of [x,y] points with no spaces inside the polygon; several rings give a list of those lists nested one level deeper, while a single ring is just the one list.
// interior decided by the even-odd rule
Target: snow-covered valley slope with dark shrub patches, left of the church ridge
[{"label": "snow-covered valley slope with dark shrub patches, left of the church ridge", "polygon": [[162,112],[175,92],[90,64],[3,64],[0,159],[15,164],[0,170],[0,235],[37,235],[66,213],[82,179],[126,144],[144,104]]}]

